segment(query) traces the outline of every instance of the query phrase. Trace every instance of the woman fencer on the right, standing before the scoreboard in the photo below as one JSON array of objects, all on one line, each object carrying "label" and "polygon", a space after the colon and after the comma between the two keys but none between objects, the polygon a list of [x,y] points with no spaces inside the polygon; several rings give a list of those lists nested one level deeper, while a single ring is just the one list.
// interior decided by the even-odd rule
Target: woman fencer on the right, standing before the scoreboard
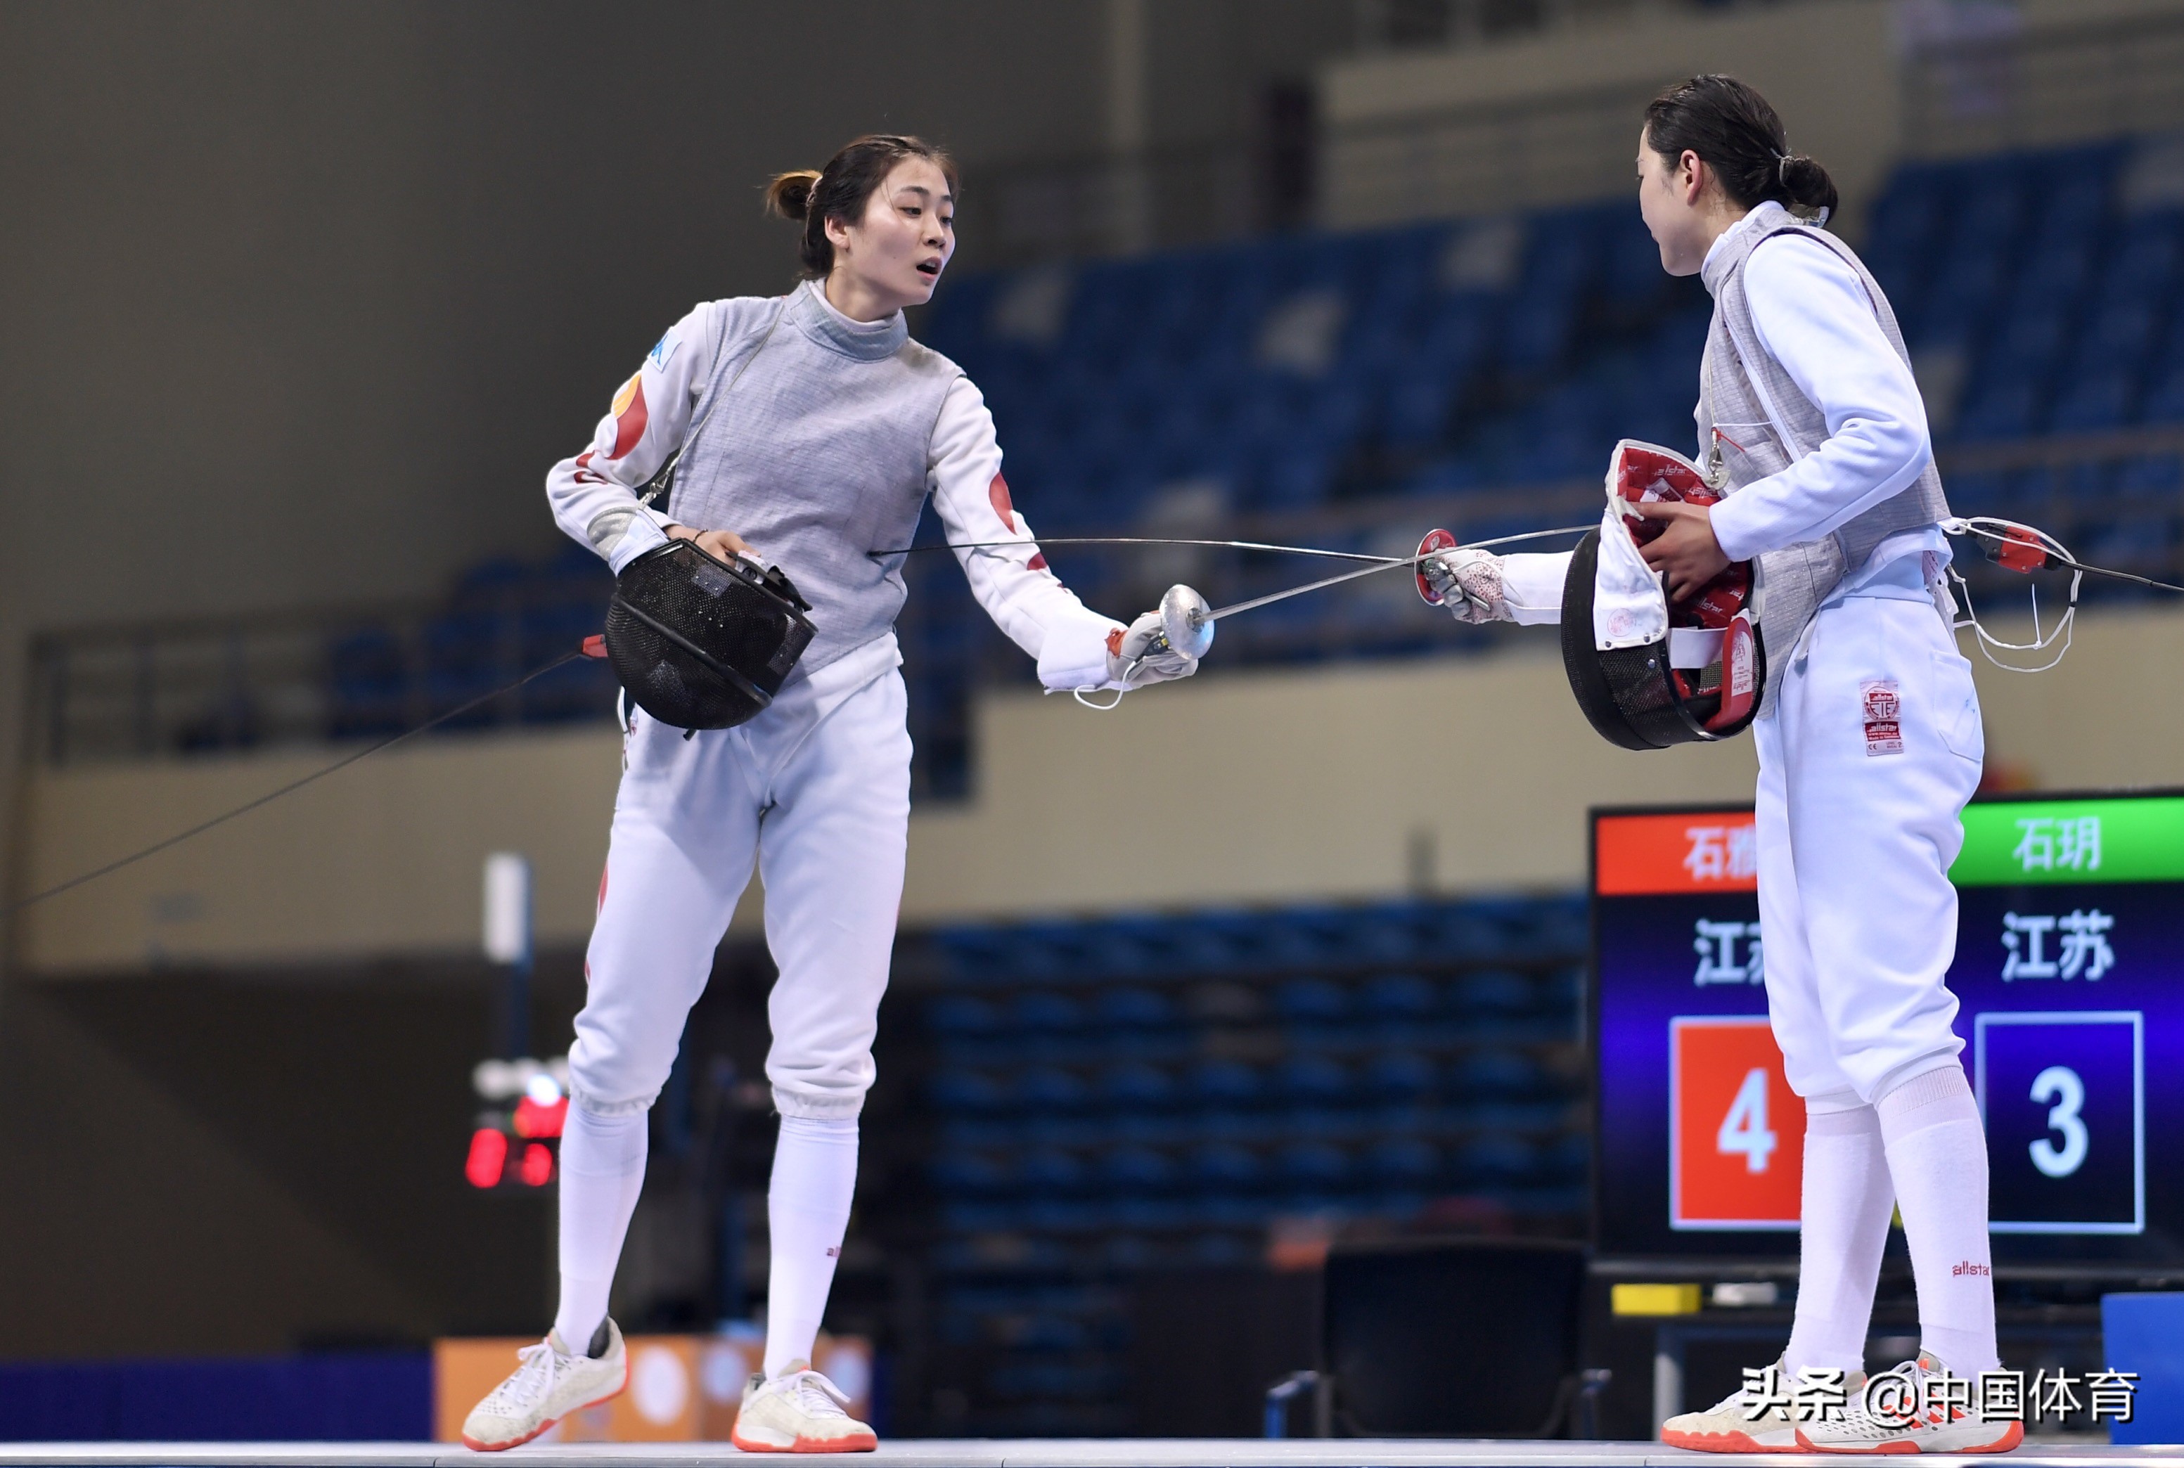
[{"label": "woman fencer on the right, standing before the scoreboard", "polygon": [[[1793,153],[1773,107],[1695,76],[1645,114],[1638,208],[1662,267],[1714,297],[1699,367],[1699,454],[1712,507],[1640,505],[1671,599],[1732,561],[1769,596],[1758,719],[1758,902],[1767,1011],[1804,1099],[1797,1309],[1778,1363],[1815,1420],[1738,1392],[1671,1418],[1662,1437],[1732,1453],[2001,1453],[2018,1422],[1974,1398],[1898,1413],[1863,1400],[1865,1333],[1900,1206],[1922,1348],[1900,1368],[1918,1402],[1996,1370],[1987,1147],[1944,987],[1957,939],[1948,867],[1979,784],[1972,671],[1942,568],[1948,516],[1926,409],[1896,315],[1824,232],[1826,170]],[[1431,579],[1463,620],[1553,623],[1566,555],[1450,550]],[[1776,599],[1787,599],[1773,605]],[[1773,634],[1771,634],[1773,636]],[[1754,1372],[1747,1381],[1767,1381]],[[1972,1402],[1966,1409],[1966,1402]]]}]

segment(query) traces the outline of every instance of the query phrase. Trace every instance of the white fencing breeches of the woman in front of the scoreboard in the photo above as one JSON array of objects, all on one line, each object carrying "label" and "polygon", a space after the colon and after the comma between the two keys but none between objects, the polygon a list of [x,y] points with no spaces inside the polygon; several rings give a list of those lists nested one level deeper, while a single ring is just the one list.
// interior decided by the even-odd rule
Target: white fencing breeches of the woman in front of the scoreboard
[{"label": "white fencing breeches of the woman in front of the scoreboard", "polygon": [[1933,599],[1894,585],[1767,651],[1793,658],[1752,725],[1767,1011],[1791,1090],[1872,1103],[1963,1049],[1944,979],[1985,751],[1972,664]]}]

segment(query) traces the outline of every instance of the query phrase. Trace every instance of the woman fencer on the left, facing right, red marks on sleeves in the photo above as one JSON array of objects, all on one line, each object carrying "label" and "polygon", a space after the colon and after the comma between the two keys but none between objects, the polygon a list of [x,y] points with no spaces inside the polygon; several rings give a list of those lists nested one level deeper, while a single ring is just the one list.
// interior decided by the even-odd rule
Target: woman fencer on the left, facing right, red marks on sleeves
[{"label": "woman fencer on the left, facing right, red marks on sleeves", "polygon": [[[561,1136],[561,1302],[546,1339],[470,1413],[463,1442],[509,1448],[622,1389],[607,1289],[644,1182],[646,1112],[753,861],[767,893],[767,1079],[780,1140],[767,1195],[764,1372],[734,1442],[753,1453],[863,1451],[874,1433],[810,1368],[856,1182],[858,1110],[902,898],[911,793],[895,671],[900,557],[926,496],[987,614],[1061,688],[1131,688],[1197,671],[1088,612],[1048,570],[1009,500],[978,389],[911,341],[902,310],[954,251],[957,170],[917,138],[858,138],[819,173],[773,179],[802,223],[804,282],[784,297],[708,301],[677,321],[614,398],[592,446],[546,481],[555,520],[620,572],[695,540],[780,566],[817,636],[775,701],[686,738],[631,714],[585,1005],[568,1055]],[[640,502],[670,454],[666,511]]]}]

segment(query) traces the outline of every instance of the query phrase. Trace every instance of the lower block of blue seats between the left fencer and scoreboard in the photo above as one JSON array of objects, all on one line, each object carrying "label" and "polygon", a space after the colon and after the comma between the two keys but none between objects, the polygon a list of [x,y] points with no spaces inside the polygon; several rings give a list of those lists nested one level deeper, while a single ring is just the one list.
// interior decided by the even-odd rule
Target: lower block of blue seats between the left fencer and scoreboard
[{"label": "lower block of blue seats between the left fencer and scoreboard", "polygon": [[1278,1219],[1577,1232],[1583,939],[1577,898],[919,939],[926,1042],[891,1064],[963,1431],[1127,1431],[1127,1280],[1256,1263]]}]

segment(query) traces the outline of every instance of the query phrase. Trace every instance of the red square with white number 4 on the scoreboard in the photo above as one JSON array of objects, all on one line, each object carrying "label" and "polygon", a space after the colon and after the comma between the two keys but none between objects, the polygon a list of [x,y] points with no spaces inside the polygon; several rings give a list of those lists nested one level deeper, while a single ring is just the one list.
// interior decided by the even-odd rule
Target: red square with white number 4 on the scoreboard
[{"label": "red square with white number 4 on the scoreboard", "polygon": [[1669,1226],[1797,1228],[1804,1101],[1767,1016],[1669,1020]]}]

